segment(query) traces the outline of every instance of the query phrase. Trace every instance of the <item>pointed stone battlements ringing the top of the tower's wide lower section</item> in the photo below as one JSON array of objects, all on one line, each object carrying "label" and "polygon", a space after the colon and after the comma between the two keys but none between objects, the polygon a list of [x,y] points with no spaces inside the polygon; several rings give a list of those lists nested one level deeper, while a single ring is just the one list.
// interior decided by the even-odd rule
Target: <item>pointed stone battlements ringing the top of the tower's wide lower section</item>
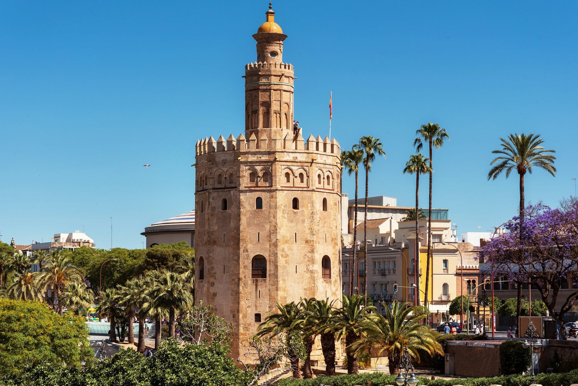
[{"label": "pointed stone battlements ringing the top of the tower's wide lower section", "polygon": [[251,133],[249,139],[246,139],[243,134],[240,134],[237,138],[231,134],[226,140],[222,135],[217,140],[210,136],[210,138],[197,140],[197,144],[195,144],[195,155],[197,156],[217,151],[234,150],[308,150],[335,154],[338,157],[341,155],[339,143],[335,138],[329,140],[327,136],[322,139],[320,135],[317,138],[309,135],[309,138],[305,141],[301,135],[301,129],[299,129],[297,135],[287,134],[285,138],[281,138],[277,132],[273,132],[271,138],[268,138],[264,133],[261,138],[257,138],[255,133]]}]

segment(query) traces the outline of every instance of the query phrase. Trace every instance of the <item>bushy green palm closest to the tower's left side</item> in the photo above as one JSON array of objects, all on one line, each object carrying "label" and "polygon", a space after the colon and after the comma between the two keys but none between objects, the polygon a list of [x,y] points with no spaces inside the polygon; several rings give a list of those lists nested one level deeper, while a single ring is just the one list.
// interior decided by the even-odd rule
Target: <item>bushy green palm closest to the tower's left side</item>
[{"label": "bushy green palm closest to the tower's left side", "polygon": [[155,280],[149,296],[155,308],[164,309],[169,314],[169,336],[174,337],[176,312],[193,305],[192,285],[186,283],[180,274],[164,270]]}]

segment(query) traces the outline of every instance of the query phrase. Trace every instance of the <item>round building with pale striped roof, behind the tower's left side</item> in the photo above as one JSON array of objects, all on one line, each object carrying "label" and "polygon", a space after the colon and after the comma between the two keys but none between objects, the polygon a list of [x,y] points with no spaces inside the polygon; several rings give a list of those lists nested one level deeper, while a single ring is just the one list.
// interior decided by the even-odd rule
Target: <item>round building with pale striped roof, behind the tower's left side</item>
[{"label": "round building with pale striped roof, behind the tower's left side", "polygon": [[195,247],[195,211],[179,214],[164,221],[155,222],[150,227],[144,228],[140,233],[146,237],[146,247],[158,244],[187,242]]}]

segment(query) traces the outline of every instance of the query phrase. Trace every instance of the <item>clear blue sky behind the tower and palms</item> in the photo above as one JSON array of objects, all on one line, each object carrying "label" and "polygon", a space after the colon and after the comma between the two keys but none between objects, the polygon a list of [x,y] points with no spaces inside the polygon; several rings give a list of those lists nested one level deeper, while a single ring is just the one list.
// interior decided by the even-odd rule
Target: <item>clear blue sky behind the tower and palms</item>
[{"label": "clear blue sky behind the tower and palms", "polygon": [[[243,131],[244,65],[266,1],[0,3],[0,232],[29,243],[84,225],[98,247],[142,247],[143,228],[193,209],[194,144]],[[487,181],[500,136],[537,132],[557,176],[528,201],[574,195],[575,1],[275,1],[295,66],[295,117],[343,149],[381,139],[370,195],[414,204],[402,169],[420,124],[451,136],[434,155],[433,206],[458,233],[513,216],[517,175]],[[143,164],[151,164],[148,169]],[[364,184],[361,181],[361,184]],[[353,179],[343,181],[353,197]],[[420,199],[427,206],[427,179]]]}]

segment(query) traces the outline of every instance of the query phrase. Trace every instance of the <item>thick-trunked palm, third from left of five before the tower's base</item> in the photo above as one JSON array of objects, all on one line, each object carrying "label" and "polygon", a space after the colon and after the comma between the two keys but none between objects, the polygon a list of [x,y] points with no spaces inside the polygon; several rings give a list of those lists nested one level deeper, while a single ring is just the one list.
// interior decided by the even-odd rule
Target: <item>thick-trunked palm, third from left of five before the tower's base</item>
[{"label": "thick-trunked palm, third from left of five before the tower's base", "polygon": [[321,337],[321,351],[325,360],[325,374],[335,375],[335,316],[336,300],[316,300],[308,311],[315,332]]}]

